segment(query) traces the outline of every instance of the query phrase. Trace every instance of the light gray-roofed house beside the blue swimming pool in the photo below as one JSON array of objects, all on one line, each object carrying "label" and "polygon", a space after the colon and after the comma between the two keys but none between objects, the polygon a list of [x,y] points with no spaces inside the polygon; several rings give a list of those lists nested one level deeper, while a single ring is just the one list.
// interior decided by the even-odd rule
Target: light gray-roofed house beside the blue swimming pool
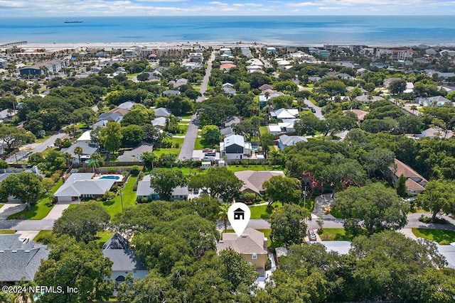
[{"label": "light gray-roofed house beside the blue swimming pool", "polygon": [[75,173],[57,189],[54,196],[58,202],[80,201],[83,198],[101,198],[112,188],[117,180],[92,179],[95,174],[91,172]]}]

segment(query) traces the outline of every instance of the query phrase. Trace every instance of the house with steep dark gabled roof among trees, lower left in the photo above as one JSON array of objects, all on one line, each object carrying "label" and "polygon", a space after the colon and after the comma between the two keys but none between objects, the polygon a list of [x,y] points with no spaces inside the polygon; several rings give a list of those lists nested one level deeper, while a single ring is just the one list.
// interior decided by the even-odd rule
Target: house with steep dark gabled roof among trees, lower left
[{"label": "house with steep dark gabled roof among trees, lower left", "polygon": [[143,279],[149,273],[136,257],[134,250],[129,248],[128,240],[119,233],[114,233],[106,241],[102,246],[102,254],[112,261],[112,273],[110,277],[105,277],[105,280],[113,281],[115,286],[124,282],[127,275],[132,275],[134,279]]}]

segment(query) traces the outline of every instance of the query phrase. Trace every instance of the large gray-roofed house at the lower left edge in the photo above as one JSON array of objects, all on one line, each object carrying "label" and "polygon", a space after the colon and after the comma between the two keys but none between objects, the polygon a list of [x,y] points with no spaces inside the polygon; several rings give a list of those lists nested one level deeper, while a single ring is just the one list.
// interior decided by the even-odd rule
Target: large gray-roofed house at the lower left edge
[{"label": "large gray-roofed house at the lower left edge", "polygon": [[41,260],[49,255],[47,246],[21,241],[20,234],[0,235],[0,281],[33,280]]}]

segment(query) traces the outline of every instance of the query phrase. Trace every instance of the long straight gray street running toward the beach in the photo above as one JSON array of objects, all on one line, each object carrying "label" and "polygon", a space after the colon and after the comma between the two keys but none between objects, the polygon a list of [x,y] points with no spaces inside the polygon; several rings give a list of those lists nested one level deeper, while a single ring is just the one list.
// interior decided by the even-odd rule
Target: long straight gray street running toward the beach
[{"label": "long straight gray street running toward the beach", "polygon": [[[202,84],[200,84],[200,94],[201,97],[196,99],[196,102],[202,102],[205,100],[204,93],[207,90],[208,86],[208,79],[210,77],[210,73],[212,72],[212,61],[215,60],[215,52],[212,52],[210,55],[210,59],[208,60],[208,66],[205,70],[205,76],[202,80]],[[190,124],[188,126],[188,131],[186,131],[185,140],[183,140],[182,149],[180,150],[180,154],[178,155],[178,160],[188,160],[193,158],[193,150],[194,150],[194,143],[196,143],[196,138],[198,138],[198,128],[199,122],[196,119],[196,114],[191,116]]]}]

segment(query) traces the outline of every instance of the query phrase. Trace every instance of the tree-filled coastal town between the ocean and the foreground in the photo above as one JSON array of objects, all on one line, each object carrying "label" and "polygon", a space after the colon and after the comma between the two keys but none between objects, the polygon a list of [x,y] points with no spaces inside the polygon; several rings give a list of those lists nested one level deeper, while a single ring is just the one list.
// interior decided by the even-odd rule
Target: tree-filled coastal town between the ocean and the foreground
[{"label": "tree-filled coastal town between the ocean and the foreground", "polygon": [[454,302],[454,131],[453,47],[0,45],[0,301]]}]

